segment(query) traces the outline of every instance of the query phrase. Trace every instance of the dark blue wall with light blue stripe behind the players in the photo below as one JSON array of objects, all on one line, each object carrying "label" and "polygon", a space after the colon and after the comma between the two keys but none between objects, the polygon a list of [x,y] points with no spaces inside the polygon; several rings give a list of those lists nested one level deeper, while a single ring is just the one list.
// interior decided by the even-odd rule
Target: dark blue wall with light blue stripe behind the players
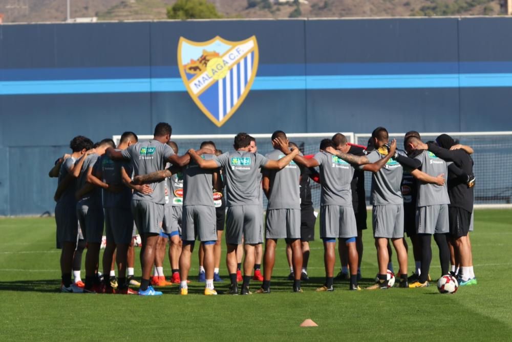
[{"label": "dark blue wall with light blue stripe behind the players", "polygon": [[[255,35],[259,67],[222,126],[180,78],[180,37]],[[0,215],[53,213],[53,161],[169,122],[175,134],[512,130],[512,18],[0,25]]]}]

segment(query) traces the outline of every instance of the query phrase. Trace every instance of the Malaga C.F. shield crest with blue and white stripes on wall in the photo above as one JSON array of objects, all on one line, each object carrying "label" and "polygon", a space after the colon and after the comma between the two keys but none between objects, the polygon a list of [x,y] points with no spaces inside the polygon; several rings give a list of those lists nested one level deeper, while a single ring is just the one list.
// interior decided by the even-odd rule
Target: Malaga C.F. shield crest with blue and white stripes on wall
[{"label": "Malaga C.F. shield crest with blue and white stripes on wall", "polygon": [[252,86],[258,69],[258,42],[255,36],[241,42],[217,36],[200,43],[181,37],[178,67],[194,102],[221,127]]}]

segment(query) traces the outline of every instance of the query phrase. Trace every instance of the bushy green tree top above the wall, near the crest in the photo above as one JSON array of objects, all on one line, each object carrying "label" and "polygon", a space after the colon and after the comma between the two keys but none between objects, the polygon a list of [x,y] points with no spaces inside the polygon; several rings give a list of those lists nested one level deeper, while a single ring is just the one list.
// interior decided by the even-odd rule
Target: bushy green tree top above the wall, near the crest
[{"label": "bushy green tree top above the wall, near the crest", "polygon": [[222,18],[214,4],[206,0],[178,0],[172,7],[167,8],[169,19],[216,19]]}]

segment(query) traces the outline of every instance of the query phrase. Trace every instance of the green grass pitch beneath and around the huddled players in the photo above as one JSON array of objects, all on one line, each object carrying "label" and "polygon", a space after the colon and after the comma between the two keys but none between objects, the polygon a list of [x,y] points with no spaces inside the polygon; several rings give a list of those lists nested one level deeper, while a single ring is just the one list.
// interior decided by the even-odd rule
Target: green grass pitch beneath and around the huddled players
[{"label": "green grass pitch beneath and around the huddled players", "polygon": [[[370,215],[369,215],[370,216]],[[272,293],[204,296],[193,281],[161,297],[61,294],[53,218],[0,219],[0,340],[510,340],[512,337],[512,211],[478,210],[471,235],[478,285],[455,295],[429,288],[316,293],[324,280],[323,249],[311,245],[304,293],[291,292],[284,241],[278,243]],[[371,226],[370,226],[371,227]],[[377,273],[371,230],[364,233],[361,287]],[[433,242],[431,275],[440,276]],[[395,268],[397,261],[393,256]],[[409,273],[414,261],[409,256]],[[339,265],[336,265],[336,272]],[[169,273],[168,262],[165,263]],[[196,279],[197,259],[191,274]],[[140,266],[136,264],[136,275]],[[82,277],[83,277],[82,268]],[[221,264],[226,291],[228,277]],[[252,283],[255,290],[260,284]],[[299,328],[313,319],[319,327]]]}]

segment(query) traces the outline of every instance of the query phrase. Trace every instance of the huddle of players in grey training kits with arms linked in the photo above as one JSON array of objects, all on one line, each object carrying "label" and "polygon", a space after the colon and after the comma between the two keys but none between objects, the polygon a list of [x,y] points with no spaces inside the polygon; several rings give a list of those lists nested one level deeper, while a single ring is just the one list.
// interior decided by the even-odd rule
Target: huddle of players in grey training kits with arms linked
[{"label": "huddle of players in grey training kits with arms linked", "polygon": [[[349,144],[337,133],[322,140],[319,152],[304,156],[285,132],[275,131],[273,151],[263,156],[256,152],[253,137],[239,133],[233,151],[222,153],[207,141],[199,150],[179,156],[171,133],[170,125],[159,123],[153,139],[139,142],[135,133],[125,132],[117,147],[112,139],[93,144],[77,136],[70,144],[72,153],[57,160],[50,176],[58,177],[54,199],[57,247],[62,249],[62,292],[161,295],[152,285],[179,283],[180,293],[186,295],[191,256],[199,240],[199,278],[205,281],[204,294],[215,295],[214,281],[222,281],[224,227],[229,294],[251,294],[253,270],[254,279],[263,281],[255,292],[270,293],[278,239],[287,244],[292,289],[302,292],[301,280],[308,280],[308,242],[314,238],[315,224],[309,178],[321,185],[319,218],[326,280],[316,291],[334,290],[336,239],[342,263],[337,277],[349,279],[350,290],[360,290],[361,233],[367,218],[364,171],[372,172],[378,259],[376,283],[367,289],[388,289],[391,245],[398,258],[398,287],[429,286],[432,235],[439,248],[441,275],[452,272],[462,286],[477,283],[468,236],[473,226],[473,150],[456,144],[449,135],[423,143],[411,131],[404,136],[405,150],[398,150],[395,140],[389,142],[388,131],[378,127],[366,148]],[[265,218],[263,194],[268,199]],[[106,247],[101,278],[103,227]],[[140,283],[133,272],[135,227],[142,240]],[[416,262],[409,277],[404,233],[412,240]],[[167,239],[173,273],[170,283],[163,275]],[[79,270],[85,244],[86,279],[82,283]],[[117,284],[107,276],[113,275],[114,264]],[[239,281],[243,281],[240,291]],[[138,291],[129,285],[139,286]]]}]

